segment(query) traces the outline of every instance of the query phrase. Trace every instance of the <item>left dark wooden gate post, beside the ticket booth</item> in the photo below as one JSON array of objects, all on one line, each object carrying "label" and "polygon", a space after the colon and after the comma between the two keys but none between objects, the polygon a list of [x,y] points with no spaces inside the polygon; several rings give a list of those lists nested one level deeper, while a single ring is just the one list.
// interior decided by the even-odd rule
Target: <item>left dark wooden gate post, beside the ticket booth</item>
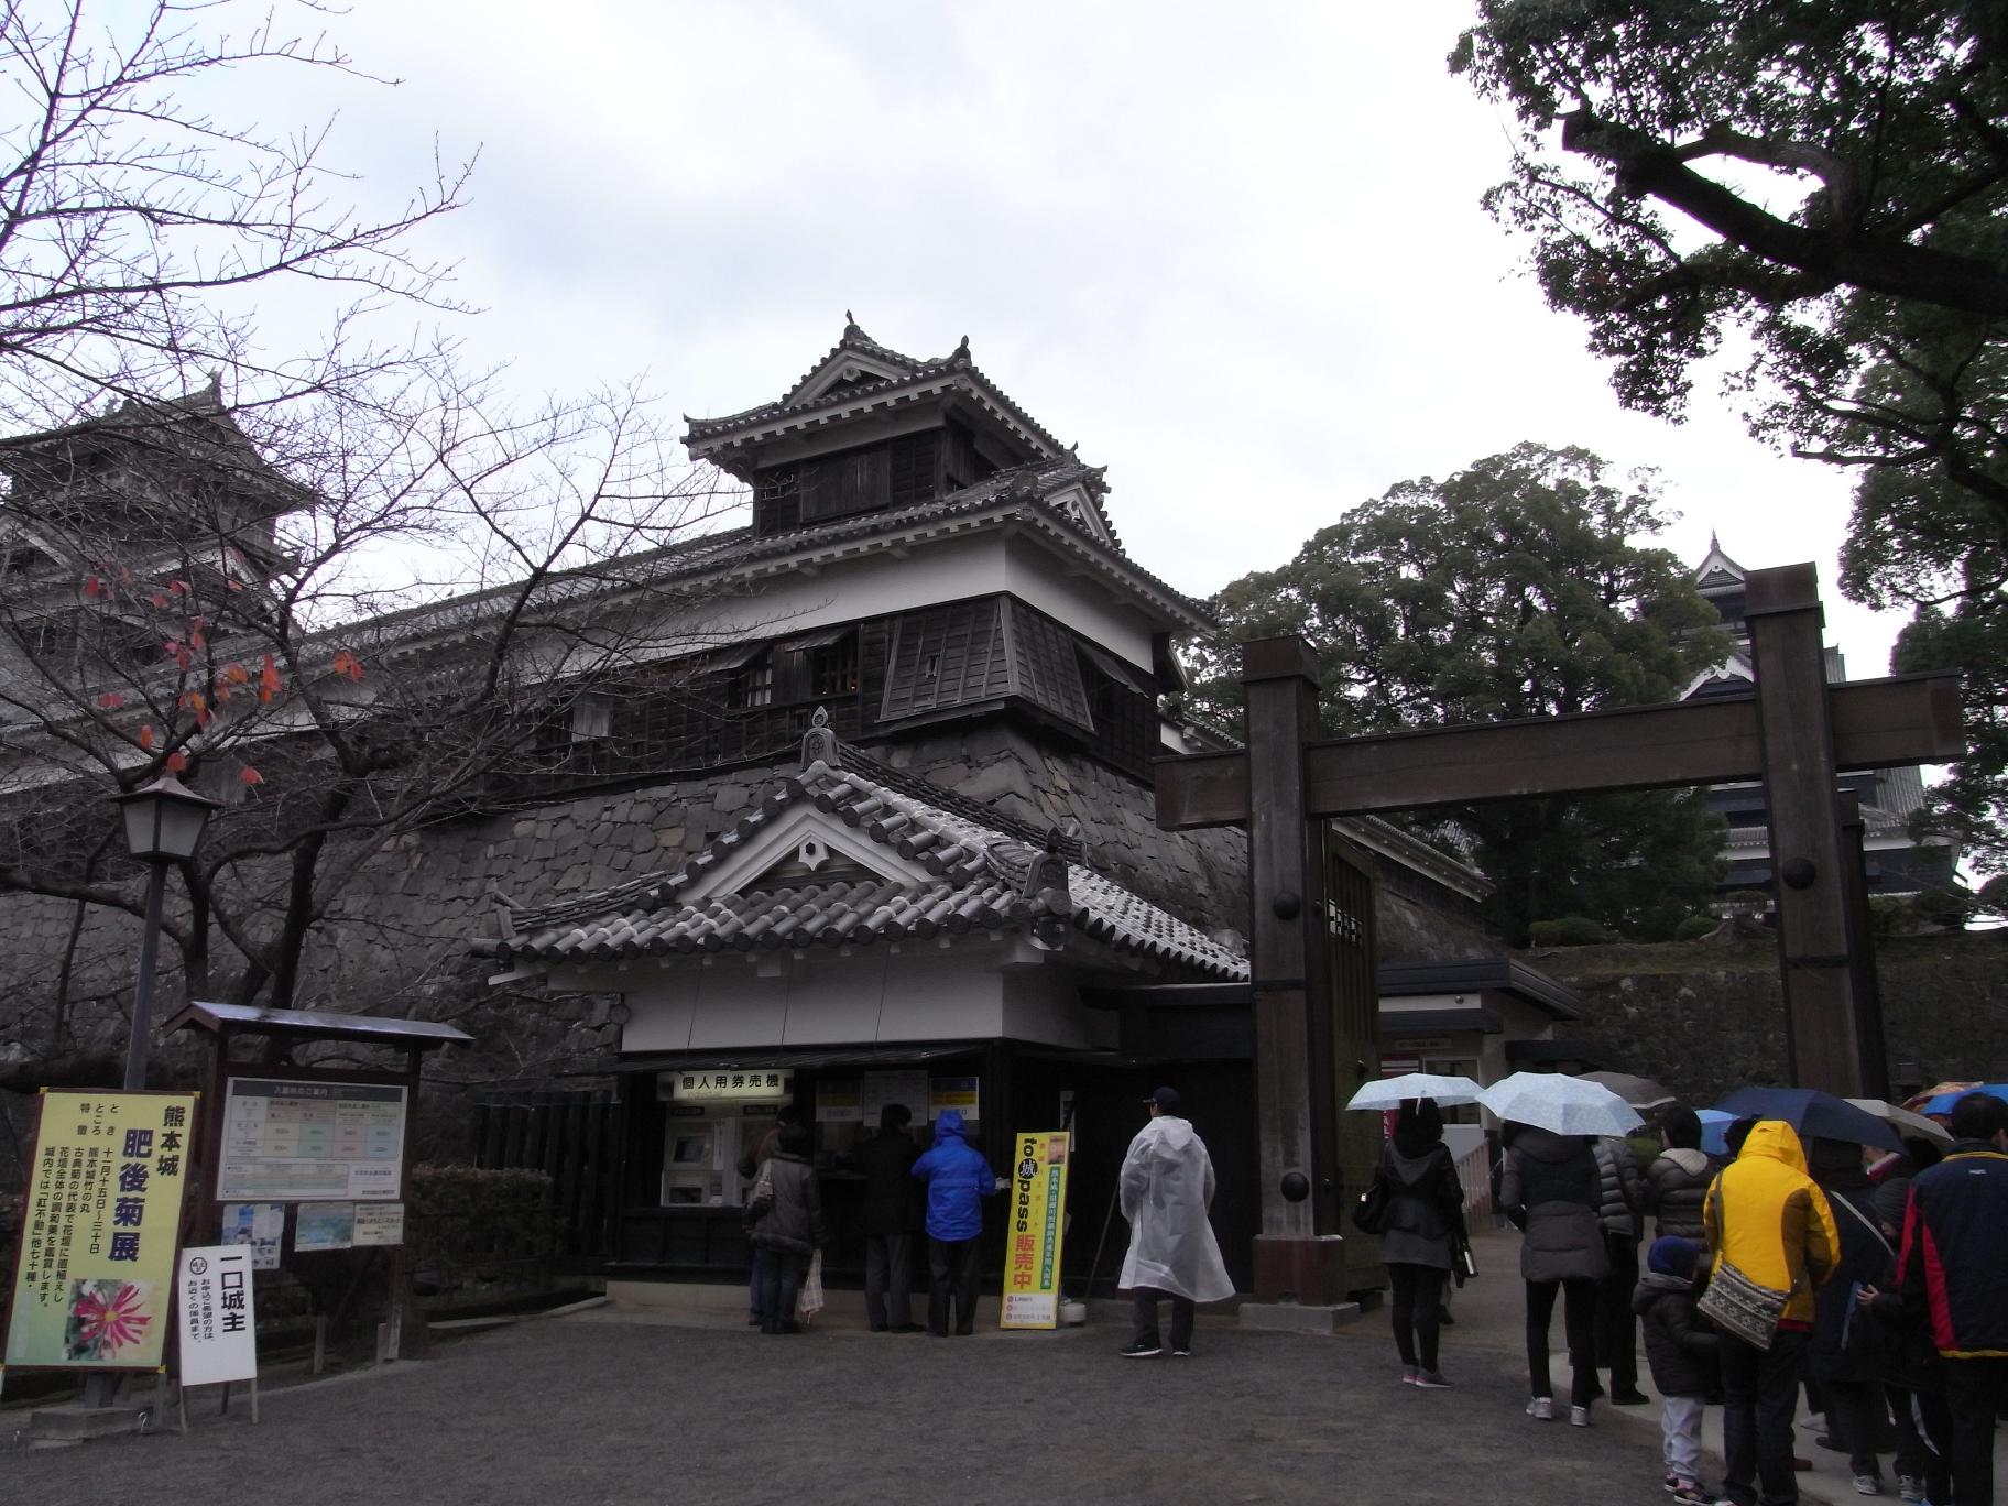
[{"label": "left dark wooden gate post, beside the ticket booth", "polygon": [[[1331,1104],[1323,849],[1305,809],[1303,747],[1319,733],[1317,657],[1297,637],[1241,647],[1247,699],[1249,926],[1255,1000],[1255,1124],[1261,1145],[1261,1233],[1255,1299],[1345,1301],[1343,1239],[1333,1229],[1331,1135],[1315,1122]],[[1329,1108],[1327,1108],[1329,1112]],[[1319,1157],[1323,1147],[1325,1155]],[[1325,1165],[1321,1165],[1321,1159]]]}]

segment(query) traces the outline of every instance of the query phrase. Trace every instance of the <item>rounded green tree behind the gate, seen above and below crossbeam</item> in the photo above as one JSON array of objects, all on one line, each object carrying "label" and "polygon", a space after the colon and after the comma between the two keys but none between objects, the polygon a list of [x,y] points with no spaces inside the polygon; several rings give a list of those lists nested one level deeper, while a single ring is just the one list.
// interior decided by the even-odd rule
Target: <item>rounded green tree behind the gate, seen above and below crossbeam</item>
[{"label": "rounded green tree behind the gate, seen above and below crossbeam", "polygon": [[[1193,709],[1239,725],[1237,649],[1301,633],[1333,735],[1546,717],[1675,699],[1729,635],[1671,552],[1649,478],[1606,480],[1584,450],[1520,444],[1442,482],[1402,482],[1319,530],[1281,570],[1213,600]],[[1490,918],[1592,916],[1671,936],[1715,892],[1721,823],[1699,793],[1500,801],[1414,817],[1498,886]]]}]

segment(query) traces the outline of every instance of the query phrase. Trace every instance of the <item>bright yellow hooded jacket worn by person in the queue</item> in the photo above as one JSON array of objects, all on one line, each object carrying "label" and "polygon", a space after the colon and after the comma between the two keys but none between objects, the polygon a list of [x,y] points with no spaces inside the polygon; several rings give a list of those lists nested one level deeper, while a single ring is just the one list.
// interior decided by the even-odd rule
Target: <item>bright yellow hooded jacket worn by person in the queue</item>
[{"label": "bright yellow hooded jacket worn by person in the queue", "polygon": [[1781,1323],[1811,1327],[1813,1287],[1839,1259],[1841,1235],[1827,1195],[1805,1175],[1799,1135],[1781,1118],[1765,1118],[1723,1167],[1703,1203],[1711,1271],[1723,1261],[1751,1281],[1789,1291]]}]

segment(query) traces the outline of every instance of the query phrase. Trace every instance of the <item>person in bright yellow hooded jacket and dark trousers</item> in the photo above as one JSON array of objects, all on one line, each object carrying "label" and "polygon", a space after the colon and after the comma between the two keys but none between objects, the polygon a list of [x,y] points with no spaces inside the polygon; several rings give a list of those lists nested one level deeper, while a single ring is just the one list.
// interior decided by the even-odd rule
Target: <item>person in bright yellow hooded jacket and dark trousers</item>
[{"label": "person in bright yellow hooded jacket and dark trousers", "polygon": [[1735,1506],[1795,1506],[1791,1418],[1813,1327],[1813,1287],[1827,1279],[1841,1249],[1827,1195],[1805,1173],[1797,1131],[1779,1118],[1759,1120],[1709,1187],[1701,1217],[1715,1257],[1711,1271],[1729,1263],[1759,1285],[1791,1293],[1769,1349],[1723,1333],[1723,1496]]}]

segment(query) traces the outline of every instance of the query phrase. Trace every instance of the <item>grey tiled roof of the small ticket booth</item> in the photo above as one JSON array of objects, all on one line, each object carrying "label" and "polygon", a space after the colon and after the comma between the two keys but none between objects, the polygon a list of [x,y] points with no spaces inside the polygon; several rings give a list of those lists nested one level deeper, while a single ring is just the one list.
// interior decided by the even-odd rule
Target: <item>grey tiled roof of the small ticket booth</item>
[{"label": "grey tiled roof of the small ticket booth", "polygon": [[[679,894],[725,863],[785,811],[803,803],[928,871],[926,880],[797,884],[681,902]],[[637,956],[869,946],[972,930],[1026,932],[1054,918],[1133,956],[1201,978],[1243,980],[1247,962],[1078,863],[1064,892],[1022,894],[1038,847],[998,825],[944,809],[859,771],[821,759],[785,775],[729,831],[671,875],[538,910],[508,912],[508,936],[478,950],[508,962],[600,962]]]}]

